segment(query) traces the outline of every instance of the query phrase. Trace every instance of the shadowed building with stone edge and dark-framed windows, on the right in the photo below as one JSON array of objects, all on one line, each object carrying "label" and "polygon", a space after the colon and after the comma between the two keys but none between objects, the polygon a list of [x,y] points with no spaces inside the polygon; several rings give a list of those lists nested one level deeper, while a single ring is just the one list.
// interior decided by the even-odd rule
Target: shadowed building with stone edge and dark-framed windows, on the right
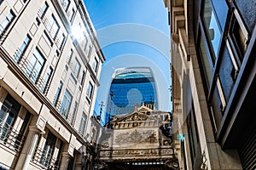
[{"label": "shadowed building with stone edge and dark-framed windows, on the right", "polygon": [[255,169],[255,1],[164,3],[180,167]]}]

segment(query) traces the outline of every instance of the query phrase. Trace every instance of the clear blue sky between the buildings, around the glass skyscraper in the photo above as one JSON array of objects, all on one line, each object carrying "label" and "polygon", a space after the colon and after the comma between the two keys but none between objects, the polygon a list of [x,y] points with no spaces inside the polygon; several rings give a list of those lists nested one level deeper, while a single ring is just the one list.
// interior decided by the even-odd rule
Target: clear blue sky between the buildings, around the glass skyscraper
[{"label": "clear blue sky between the buildings, around the glass skyscraper", "polygon": [[[171,111],[170,28],[163,0],[84,0],[106,62],[97,103],[106,105],[114,69],[149,66],[158,82],[160,110]],[[98,104],[96,104],[97,108]]]}]

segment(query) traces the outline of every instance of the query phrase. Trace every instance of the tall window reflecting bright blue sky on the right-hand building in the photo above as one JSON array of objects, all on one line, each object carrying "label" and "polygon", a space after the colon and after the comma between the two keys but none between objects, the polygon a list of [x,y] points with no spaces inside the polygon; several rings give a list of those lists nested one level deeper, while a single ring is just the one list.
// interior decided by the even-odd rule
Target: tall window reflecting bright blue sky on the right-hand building
[{"label": "tall window reflecting bright blue sky on the right-hand building", "polygon": [[218,20],[213,13],[212,4],[210,0],[206,0],[205,8],[204,8],[204,25],[207,29],[206,34],[209,42],[211,42],[210,48],[214,52],[212,55],[212,63],[214,64],[216,57],[218,56],[218,48],[220,45],[221,31],[218,27]]}]

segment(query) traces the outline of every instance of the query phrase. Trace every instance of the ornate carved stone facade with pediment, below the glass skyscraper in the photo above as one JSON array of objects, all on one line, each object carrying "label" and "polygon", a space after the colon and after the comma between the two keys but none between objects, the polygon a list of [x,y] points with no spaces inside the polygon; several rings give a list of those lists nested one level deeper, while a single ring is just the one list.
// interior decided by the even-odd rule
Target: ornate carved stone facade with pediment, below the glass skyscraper
[{"label": "ornate carved stone facade with pediment, below the glass skyscraper", "polygon": [[152,111],[147,106],[113,116],[108,128],[102,129],[97,161],[104,166],[96,169],[178,169],[171,113]]}]

